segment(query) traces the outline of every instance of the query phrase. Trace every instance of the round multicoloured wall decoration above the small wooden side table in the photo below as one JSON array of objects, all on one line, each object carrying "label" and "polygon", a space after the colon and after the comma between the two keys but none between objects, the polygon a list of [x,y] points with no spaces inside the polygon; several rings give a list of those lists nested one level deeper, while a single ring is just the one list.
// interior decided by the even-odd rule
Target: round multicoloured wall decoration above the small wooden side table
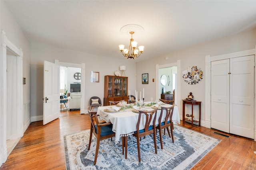
[{"label": "round multicoloured wall decoration above the small wooden side table", "polygon": [[189,66],[182,73],[184,81],[188,84],[196,84],[203,79],[203,71],[197,66]]}]

